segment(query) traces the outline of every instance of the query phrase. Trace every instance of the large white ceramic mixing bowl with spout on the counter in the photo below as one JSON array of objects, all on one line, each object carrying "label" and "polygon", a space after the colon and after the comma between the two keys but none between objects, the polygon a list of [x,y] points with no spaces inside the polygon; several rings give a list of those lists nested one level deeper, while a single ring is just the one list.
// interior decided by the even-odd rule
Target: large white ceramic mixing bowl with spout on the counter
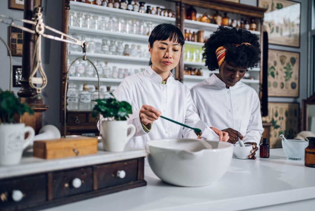
[{"label": "large white ceramic mixing bowl with spout on the counter", "polygon": [[205,149],[198,139],[161,139],[146,143],[152,171],[164,182],[186,186],[210,185],[219,180],[230,166],[233,145],[208,141]]}]

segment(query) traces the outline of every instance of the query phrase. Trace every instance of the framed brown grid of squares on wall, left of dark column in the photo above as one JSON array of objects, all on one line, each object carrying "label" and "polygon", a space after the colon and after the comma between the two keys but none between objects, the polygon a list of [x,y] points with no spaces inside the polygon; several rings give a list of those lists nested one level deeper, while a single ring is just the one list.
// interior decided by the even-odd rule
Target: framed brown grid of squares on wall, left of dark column
[{"label": "framed brown grid of squares on wall, left of dark column", "polygon": [[9,26],[9,48],[12,56],[22,56],[23,30]]}]

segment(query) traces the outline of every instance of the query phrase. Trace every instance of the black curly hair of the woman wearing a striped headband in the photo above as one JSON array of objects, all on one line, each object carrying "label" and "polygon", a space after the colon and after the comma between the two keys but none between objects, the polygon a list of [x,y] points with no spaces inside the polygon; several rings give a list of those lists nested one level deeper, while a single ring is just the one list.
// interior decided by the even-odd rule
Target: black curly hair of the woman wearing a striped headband
[{"label": "black curly hair of the woman wearing a striped headband", "polygon": [[[253,68],[260,62],[260,43],[259,37],[245,29],[235,27],[219,26],[203,46],[205,66],[209,70],[219,69],[215,50],[220,46],[226,48],[225,60],[227,63],[236,67]],[[236,44],[250,43],[250,46]]]}]

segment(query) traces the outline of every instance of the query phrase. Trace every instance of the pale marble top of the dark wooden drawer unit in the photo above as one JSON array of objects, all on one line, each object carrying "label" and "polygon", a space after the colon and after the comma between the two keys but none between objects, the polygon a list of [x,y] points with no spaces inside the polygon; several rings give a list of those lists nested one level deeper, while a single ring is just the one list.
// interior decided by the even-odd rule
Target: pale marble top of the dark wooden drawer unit
[{"label": "pale marble top of the dark wooden drawer unit", "polygon": [[98,151],[96,154],[45,160],[37,157],[23,157],[20,164],[0,166],[0,179],[38,174],[67,168],[111,163],[138,157],[146,157],[145,150],[127,148],[123,152]]}]

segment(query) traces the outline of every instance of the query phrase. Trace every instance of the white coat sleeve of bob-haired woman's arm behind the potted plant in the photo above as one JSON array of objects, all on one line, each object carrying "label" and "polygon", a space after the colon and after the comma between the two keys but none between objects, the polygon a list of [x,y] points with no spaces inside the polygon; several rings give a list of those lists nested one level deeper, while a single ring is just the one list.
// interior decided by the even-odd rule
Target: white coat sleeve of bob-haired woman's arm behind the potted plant
[{"label": "white coat sleeve of bob-haired woman's arm behind the potted plant", "polygon": [[[140,121],[140,116],[139,116],[139,112],[140,112],[140,108],[137,108],[135,106],[135,103],[133,103],[133,96],[132,93],[130,92],[130,90],[132,90],[131,85],[129,84],[127,79],[124,79],[118,86],[118,88],[113,92],[114,97],[119,100],[119,101],[127,101],[128,103],[130,103],[130,105],[132,106],[132,114],[129,114],[129,117],[127,118],[128,124],[133,124],[135,125],[136,128],[136,132],[134,136],[140,136],[140,135],[145,135],[150,133],[150,131],[148,133],[146,133],[141,125],[141,121]],[[103,120],[103,117],[100,117],[100,120]],[[100,121],[99,121],[100,122]],[[100,129],[100,123],[97,123],[97,127]],[[153,126],[153,124],[152,124]]]}]

